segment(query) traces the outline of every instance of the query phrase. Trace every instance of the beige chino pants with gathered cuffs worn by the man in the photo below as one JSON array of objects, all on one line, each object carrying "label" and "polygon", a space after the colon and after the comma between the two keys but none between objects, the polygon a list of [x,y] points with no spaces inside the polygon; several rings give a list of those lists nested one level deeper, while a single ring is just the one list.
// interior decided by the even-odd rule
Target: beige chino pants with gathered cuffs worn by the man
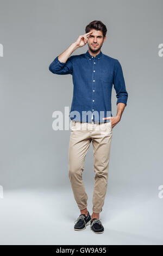
[{"label": "beige chino pants with gathered cuffs worn by the man", "polygon": [[85,156],[92,141],[95,172],[92,210],[97,214],[102,211],[108,184],[111,140],[112,126],[110,121],[94,123],[92,120],[92,123],[80,123],[80,121],[72,120],[68,150],[68,177],[71,181],[74,199],[80,210],[87,207],[87,194],[82,174]]}]

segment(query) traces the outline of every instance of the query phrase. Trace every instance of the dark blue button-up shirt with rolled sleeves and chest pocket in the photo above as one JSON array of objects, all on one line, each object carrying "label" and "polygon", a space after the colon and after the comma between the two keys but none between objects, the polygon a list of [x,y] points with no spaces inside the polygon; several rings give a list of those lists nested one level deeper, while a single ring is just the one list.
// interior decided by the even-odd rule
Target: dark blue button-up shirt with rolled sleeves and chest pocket
[{"label": "dark blue button-up shirt with rolled sleeves and chest pocket", "polygon": [[89,51],[70,56],[60,62],[57,56],[49,70],[57,75],[72,75],[73,98],[69,117],[71,120],[95,123],[110,121],[112,117],[111,90],[114,85],[117,104],[127,105],[128,93],[120,62],[99,52],[96,57]]}]

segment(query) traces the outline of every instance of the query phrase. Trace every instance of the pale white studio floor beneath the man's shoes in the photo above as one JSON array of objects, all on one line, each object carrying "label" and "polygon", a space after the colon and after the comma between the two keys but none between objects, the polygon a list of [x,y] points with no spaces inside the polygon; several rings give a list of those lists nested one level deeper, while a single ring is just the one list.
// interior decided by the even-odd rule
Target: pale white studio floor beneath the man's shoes
[{"label": "pale white studio floor beneath the man's shoes", "polygon": [[[163,245],[163,199],[156,195],[145,200],[140,194],[117,197],[107,192],[100,214],[105,231],[95,234],[90,225],[73,230],[80,212],[70,187],[3,193],[1,245]],[[92,214],[91,196],[88,202]]]}]

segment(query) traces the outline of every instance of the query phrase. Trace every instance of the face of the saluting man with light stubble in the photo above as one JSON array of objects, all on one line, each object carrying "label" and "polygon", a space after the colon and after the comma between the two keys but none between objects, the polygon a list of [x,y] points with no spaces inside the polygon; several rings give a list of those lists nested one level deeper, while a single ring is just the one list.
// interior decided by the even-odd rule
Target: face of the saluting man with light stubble
[{"label": "face of the saluting man with light stubble", "polygon": [[90,32],[92,32],[92,34],[89,35],[87,44],[92,52],[98,52],[102,47],[106,36],[103,38],[102,31],[97,31],[96,29],[91,29]]}]

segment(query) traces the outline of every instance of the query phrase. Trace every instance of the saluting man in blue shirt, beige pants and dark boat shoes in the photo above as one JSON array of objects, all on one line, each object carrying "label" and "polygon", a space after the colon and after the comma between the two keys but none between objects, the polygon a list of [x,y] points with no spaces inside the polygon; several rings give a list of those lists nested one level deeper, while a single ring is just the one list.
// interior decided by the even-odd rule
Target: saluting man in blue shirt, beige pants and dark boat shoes
[{"label": "saluting man in blue shirt, beige pants and dark boat shoes", "polygon": [[[49,65],[54,74],[71,74],[73,78],[73,99],[69,117],[72,120],[68,151],[68,176],[80,215],[74,230],[83,230],[91,224],[96,234],[104,232],[99,213],[104,205],[108,184],[108,168],[112,129],[120,122],[128,93],[124,82],[121,64],[117,59],[102,53],[106,39],[106,26],[101,21],[92,21],[67,50],[57,56]],[[86,45],[86,53],[73,55],[77,48]],[[116,90],[117,114],[111,114],[112,84]],[[93,212],[87,211],[87,194],[82,173],[84,160],[90,143],[93,145],[95,186],[93,191]]]}]

